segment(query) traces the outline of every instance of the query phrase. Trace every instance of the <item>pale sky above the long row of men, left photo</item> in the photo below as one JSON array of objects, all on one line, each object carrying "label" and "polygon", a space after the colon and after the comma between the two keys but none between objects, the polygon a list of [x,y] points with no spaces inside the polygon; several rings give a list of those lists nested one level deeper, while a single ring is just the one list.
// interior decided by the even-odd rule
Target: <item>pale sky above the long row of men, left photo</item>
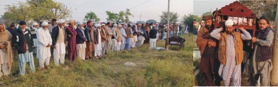
[{"label": "pale sky above the long row of men, left photo", "polygon": [[[8,4],[17,3],[25,0],[1,0],[0,15],[5,13],[5,6]],[[159,15],[163,11],[167,11],[168,0],[54,0],[65,4],[72,9],[72,18],[81,22],[86,13],[94,12],[101,22],[106,22],[106,10],[113,13],[119,13],[120,10],[131,9],[133,17],[130,17],[132,22],[140,20],[147,21],[148,19],[155,19],[160,22]],[[193,13],[193,0],[170,0],[170,11],[177,12],[179,20],[184,15]]]}]

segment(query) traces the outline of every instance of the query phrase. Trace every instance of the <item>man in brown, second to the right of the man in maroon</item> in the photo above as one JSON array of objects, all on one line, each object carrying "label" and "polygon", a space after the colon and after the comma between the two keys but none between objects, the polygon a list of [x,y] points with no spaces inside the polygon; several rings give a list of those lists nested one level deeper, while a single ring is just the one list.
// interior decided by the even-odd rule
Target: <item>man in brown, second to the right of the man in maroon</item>
[{"label": "man in brown, second to the right of the man in maroon", "polygon": [[95,50],[94,30],[92,26],[92,20],[88,20],[87,22],[87,26],[85,28],[85,36],[87,38],[85,58],[89,59],[92,57],[92,51]]}]

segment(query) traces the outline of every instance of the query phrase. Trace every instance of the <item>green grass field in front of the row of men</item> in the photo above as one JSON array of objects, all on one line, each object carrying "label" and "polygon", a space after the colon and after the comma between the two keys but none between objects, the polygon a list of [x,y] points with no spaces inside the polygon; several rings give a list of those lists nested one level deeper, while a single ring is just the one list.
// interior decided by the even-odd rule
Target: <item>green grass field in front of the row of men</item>
[{"label": "green grass field in front of the row of men", "polygon": [[[164,46],[165,41],[156,43],[156,47]],[[38,59],[34,58],[36,72],[30,72],[26,65],[25,76],[13,76],[19,72],[15,61],[12,73],[1,77],[5,84],[0,86],[193,86],[193,47],[190,34],[181,50],[172,46],[170,51],[158,51],[143,45],[131,51],[109,52],[104,60],[95,62],[77,59],[69,70],[56,67],[53,58],[49,70],[39,70]],[[126,67],[125,62],[136,63],[137,67]]]}]

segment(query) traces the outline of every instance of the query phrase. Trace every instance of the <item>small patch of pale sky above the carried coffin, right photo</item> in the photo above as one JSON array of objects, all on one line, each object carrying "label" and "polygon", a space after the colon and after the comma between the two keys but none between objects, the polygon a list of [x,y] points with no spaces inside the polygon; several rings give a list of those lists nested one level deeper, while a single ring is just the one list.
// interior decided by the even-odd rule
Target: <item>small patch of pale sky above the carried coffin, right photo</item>
[{"label": "small patch of pale sky above the carried coffin, right photo", "polygon": [[193,14],[202,15],[206,12],[213,12],[216,8],[220,9],[229,3],[236,0],[194,0],[193,1]]}]

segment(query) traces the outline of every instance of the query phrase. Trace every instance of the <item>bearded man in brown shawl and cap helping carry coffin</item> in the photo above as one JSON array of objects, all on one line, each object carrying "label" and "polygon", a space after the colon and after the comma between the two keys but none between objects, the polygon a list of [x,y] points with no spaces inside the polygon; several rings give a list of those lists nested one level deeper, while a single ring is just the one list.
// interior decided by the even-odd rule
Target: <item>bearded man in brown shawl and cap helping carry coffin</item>
[{"label": "bearded man in brown shawl and cap helping carry coffin", "polygon": [[206,26],[202,26],[196,40],[202,57],[200,70],[204,72],[205,86],[213,86],[216,42],[209,35],[213,31],[213,17],[212,15],[204,15],[202,19],[205,21]]}]

